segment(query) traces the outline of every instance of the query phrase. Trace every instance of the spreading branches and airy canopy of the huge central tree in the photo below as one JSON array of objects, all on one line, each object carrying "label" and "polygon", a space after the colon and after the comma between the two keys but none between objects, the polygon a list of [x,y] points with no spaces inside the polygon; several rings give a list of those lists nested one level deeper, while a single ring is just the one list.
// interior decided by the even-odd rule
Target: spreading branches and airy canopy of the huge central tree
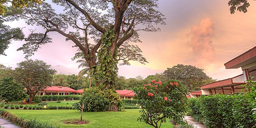
[{"label": "spreading branches and airy canopy of the huge central tree", "polygon": [[[79,48],[75,58],[83,56],[88,67],[92,69],[96,68],[95,56],[102,46],[102,35],[110,30],[113,30],[113,41],[108,44],[105,53],[113,57],[114,52],[118,51],[120,56],[114,57],[123,61],[123,64],[129,64],[130,60],[146,62],[139,47],[128,43],[140,42],[139,31],[157,32],[160,29],[154,25],[165,24],[164,15],[156,10],[157,1],[53,0],[53,3],[65,8],[64,12],[57,14],[49,3],[43,2],[41,5],[30,3],[24,9],[10,8],[8,15],[17,20],[23,19],[27,24],[42,26],[46,30],[43,37],[38,37],[41,40],[27,42],[18,49],[23,50],[27,56],[32,55],[44,44],[48,33],[58,32]],[[67,30],[70,27],[73,31]],[[93,38],[91,42],[94,43],[89,43],[89,36]]]}]

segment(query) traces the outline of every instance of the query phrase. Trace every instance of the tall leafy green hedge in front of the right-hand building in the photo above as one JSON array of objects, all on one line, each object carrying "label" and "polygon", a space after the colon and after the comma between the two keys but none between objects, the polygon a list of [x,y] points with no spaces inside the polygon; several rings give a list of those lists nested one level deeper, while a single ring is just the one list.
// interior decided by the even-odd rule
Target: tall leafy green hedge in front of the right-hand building
[{"label": "tall leafy green hedge in front of the right-hand building", "polygon": [[208,128],[251,128],[253,100],[246,94],[216,94],[190,98],[191,116]]}]

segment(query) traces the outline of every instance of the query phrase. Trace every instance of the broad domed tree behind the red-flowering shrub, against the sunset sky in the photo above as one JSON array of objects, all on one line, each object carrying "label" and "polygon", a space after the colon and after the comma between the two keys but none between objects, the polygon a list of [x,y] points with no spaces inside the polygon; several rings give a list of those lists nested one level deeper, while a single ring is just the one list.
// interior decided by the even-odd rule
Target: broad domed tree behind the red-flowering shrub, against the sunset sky
[{"label": "broad domed tree behind the red-flowering shrub, against the sunset sky", "polygon": [[200,90],[200,85],[216,81],[216,79],[207,76],[203,69],[191,65],[178,64],[172,68],[167,68],[163,74],[168,81],[177,79],[186,85],[189,91]]}]

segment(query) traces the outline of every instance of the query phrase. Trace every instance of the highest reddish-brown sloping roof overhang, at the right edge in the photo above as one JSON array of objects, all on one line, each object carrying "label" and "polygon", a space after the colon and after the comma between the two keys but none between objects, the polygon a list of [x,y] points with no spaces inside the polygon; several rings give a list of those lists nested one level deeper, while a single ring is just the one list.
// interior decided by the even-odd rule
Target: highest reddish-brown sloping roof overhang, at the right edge
[{"label": "highest reddish-brown sloping roof overhang, at the right edge", "polygon": [[236,58],[226,62],[224,66],[226,69],[238,69],[239,67],[246,66],[256,61],[256,47],[248,50],[247,52],[237,56]]}]

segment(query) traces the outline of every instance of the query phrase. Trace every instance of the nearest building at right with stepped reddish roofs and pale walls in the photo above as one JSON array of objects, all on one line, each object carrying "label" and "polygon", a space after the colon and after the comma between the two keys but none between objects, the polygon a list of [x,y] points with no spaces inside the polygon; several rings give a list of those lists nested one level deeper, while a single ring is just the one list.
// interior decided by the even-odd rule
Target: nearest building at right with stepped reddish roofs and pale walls
[{"label": "nearest building at right with stepped reddish roofs and pale walls", "polygon": [[201,85],[201,91],[190,92],[191,97],[196,98],[202,94],[240,93],[241,89],[243,89],[240,85],[245,84],[247,79],[256,80],[256,78],[250,78],[250,76],[256,76],[256,47],[226,62],[224,66],[226,69],[238,69],[241,67],[242,74],[222,81]]}]

